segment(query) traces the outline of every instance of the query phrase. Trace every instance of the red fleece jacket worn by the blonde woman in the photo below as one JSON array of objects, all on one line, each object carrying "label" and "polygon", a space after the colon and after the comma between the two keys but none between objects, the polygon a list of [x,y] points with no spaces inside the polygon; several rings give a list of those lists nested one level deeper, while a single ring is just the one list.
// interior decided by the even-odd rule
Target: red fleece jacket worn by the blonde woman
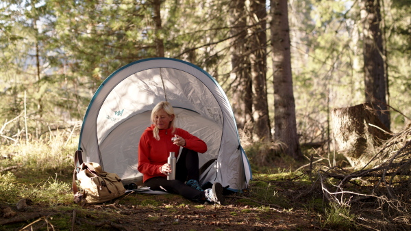
[{"label": "red fleece jacket worn by the blonde woman", "polygon": [[142,180],[145,182],[149,178],[155,176],[162,176],[166,178],[166,175],[160,172],[160,167],[167,163],[169,152],[175,152],[175,158],[178,156],[179,146],[173,144],[171,137],[175,134],[183,137],[186,140],[186,146],[195,152],[204,153],[207,151],[207,144],[198,137],[191,135],[182,128],[175,128],[175,133],[172,134],[173,128],[160,130],[160,140],[157,140],[153,136],[154,125],[151,124],[140,138],[138,144],[138,171],[143,174]]}]

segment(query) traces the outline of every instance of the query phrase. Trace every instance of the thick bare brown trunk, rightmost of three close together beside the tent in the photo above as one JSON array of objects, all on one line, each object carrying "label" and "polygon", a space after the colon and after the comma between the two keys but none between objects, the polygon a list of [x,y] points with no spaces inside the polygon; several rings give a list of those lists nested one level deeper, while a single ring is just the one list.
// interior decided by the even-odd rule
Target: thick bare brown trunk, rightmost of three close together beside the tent
[{"label": "thick bare brown trunk, rightmost of three close together beside the tent", "polygon": [[276,140],[286,144],[286,154],[302,160],[297,136],[292,91],[290,29],[286,0],[271,0],[271,43],[273,46],[274,122]]}]

